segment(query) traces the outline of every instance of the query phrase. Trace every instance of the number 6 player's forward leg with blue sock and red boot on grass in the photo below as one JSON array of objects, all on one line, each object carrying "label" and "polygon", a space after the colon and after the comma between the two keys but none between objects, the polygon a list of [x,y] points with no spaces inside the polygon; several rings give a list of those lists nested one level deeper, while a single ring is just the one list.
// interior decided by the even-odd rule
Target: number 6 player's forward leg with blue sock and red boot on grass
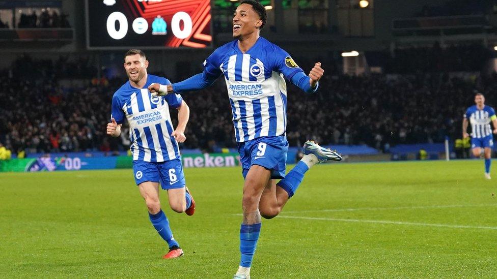
[{"label": "number 6 player's forward leg with blue sock and red boot on grass", "polygon": [[[178,242],[173,237],[173,232],[169,227],[168,218],[165,216],[164,212],[160,209],[159,200],[159,183],[146,181],[138,185],[140,190],[140,195],[148,208],[150,222],[154,226],[157,233],[168,242],[169,253],[164,255],[164,259],[177,258],[183,255],[183,251],[180,249]],[[183,192],[184,199],[184,192]]]}]

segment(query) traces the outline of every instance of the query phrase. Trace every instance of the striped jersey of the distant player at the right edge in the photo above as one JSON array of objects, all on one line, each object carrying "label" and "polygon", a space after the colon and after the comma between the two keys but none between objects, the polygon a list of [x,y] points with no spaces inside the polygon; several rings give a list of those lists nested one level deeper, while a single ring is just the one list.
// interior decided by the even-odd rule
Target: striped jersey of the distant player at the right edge
[{"label": "striped jersey of the distant player at the right edge", "polygon": [[490,120],[495,117],[495,111],[489,106],[484,106],[479,110],[477,106],[467,108],[464,118],[470,120],[471,123],[471,136],[473,138],[484,138],[492,134],[490,128]]}]

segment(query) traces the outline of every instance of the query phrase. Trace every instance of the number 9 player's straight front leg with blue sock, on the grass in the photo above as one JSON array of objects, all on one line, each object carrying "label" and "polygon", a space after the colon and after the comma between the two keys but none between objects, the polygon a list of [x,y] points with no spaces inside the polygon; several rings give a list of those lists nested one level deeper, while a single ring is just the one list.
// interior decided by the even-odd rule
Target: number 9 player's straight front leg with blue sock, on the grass
[{"label": "number 9 player's straight front leg with blue sock, on the grass", "polygon": [[234,278],[250,278],[252,258],[261,230],[259,202],[270,177],[271,171],[259,165],[252,165],[245,176],[242,199],[243,221],[240,228],[241,260]]}]

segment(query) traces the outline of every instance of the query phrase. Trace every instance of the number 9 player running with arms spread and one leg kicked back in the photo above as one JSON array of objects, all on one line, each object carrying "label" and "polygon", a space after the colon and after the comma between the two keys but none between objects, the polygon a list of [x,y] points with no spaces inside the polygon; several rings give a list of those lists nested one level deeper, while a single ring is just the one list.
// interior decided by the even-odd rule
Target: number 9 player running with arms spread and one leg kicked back
[{"label": "number 9 player running with arms spread and one leg kicked back", "polygon": [[[277,216],[314,164],[342,160],[338,153],[308,141],[304,145],[305,156],[285,176],[288,150],[285,78],[311,93],[318,89],[324,71],[316,63],[306,75],[286,51],[260,37],[266,18],[266,10],[260,3],[242,1],[233,17],[236,40],[217,48],[204,61],[203,73],[172,85],[149,86],[152,94],[168,96],[202,89],[219,76],[225,77],[245,178],[241,260],[235,278],[250,278],[261,216],[266,219]],[[279,179],[282,180],[278,182]]]}]

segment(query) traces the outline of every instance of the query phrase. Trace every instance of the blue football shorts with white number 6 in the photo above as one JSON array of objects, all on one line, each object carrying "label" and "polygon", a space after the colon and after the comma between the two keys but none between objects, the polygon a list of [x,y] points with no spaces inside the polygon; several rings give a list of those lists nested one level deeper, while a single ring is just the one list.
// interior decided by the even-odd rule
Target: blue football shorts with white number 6
[{"label": "blue football shorts with white number 6", "polygon": [[164,190],[185,187],[185,175],[180,159],[165,162],[133,161],[134,181],[136,185],[145,181],[159,182]]}]

